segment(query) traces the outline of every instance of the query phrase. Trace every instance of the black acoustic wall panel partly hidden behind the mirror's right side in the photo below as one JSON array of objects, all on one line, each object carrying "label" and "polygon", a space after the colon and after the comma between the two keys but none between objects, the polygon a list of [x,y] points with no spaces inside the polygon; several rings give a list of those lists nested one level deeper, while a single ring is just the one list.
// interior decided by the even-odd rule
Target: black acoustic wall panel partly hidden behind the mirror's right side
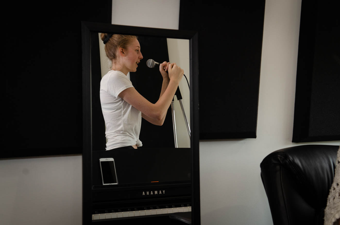
[{"label": "black acoustic wall panel partly hidden behind the mirror's right side", "polygon": [[181,1],[199,37],[200,139],[256,138],[265,1]]}]

